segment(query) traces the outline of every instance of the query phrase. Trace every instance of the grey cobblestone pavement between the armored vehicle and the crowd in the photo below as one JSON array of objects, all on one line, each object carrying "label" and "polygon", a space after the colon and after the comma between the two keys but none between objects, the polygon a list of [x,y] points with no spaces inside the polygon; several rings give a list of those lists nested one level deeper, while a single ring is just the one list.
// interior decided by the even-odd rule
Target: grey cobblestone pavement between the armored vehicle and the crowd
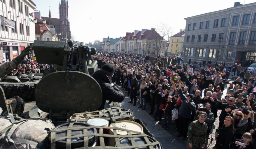
[{"label": "grey cobblestone pavement between the armored vehicle and the crowd", "polygon": [[[119,89],[122,90],[121,86],[118,86]],[[123,90],[122,90],[123,91]],[[222,98],[226,96],[226,91],[227,91],[227,83],[225,84],[225,90],[223,91],[224,95],[222,95]],[[150,112],[150,106],[147,104],[146,110],[141,110],[141,108],[138,108],[139,106],[139,98],[137,97],[137,106],[133,106],[133,104],[129,104],[128,102],[130,101],[130,97],[127,97],[127,93],[123,91],[125,94],[125,100],[120,103],[120,107],[130,110],[134,113],[134,118],[135,119],[141,119],[141,121],[144,123],[144,125],[147,127],[147,129],[150,131],[151,134],[154,135],[155,139],[159,142],[161,142],[162,146],[164,149],[168,148],[187,148],[187,140],[183,141],[180,138],[177,138],[176,135],[178,132],[174,130],[173,128],[176,126],[174,121],[170,123],[170,128],[169,130],[164,130],[161,126],[162,124],[158,125],[157,121],[153,120],[153,115],[149,115],[148,113]],[[218,115],[221,113],[221,110],[218,110]],[[161,121],[163,123],[163,121]],[[214,133],[215,130],[218,128],[219,125],[219,120],[218,117],[216,121],[214,122],[212,126],[212,132],[210,137],[213,138],[212,142],[211,139],[206,140],[206,147],[205,149],[210,149],[213,148],[216,140],[214,138]]]}]

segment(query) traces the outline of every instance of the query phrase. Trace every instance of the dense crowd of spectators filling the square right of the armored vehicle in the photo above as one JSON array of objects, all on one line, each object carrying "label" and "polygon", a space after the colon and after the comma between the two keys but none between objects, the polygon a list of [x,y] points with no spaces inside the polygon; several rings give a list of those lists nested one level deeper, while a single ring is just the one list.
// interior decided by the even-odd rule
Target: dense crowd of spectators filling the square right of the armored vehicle
[{"label": "dense crowd of spectators filling the square right of the armored vehicle", "polygon": [[[99,68],[112,64],[112,81],[130,96],[128,103],[136,106],[139,99],[138,108],[150,108],[149,114],[164,129],[170,128],[172,110],[178,109],[174,129],[177,137],[188,136],[188,148],[205,147],[217,118],[215,148],[254,148],[256,80],[254,72],[242,70],[241,64],[223,61],[211,66],[210,60],[182,64],[181,56],[120,53],[100,53],[93,59]],[[224,92],[230,75],[238,77],[226,84]],[[219,115],[218,110],[222,110]]]}]

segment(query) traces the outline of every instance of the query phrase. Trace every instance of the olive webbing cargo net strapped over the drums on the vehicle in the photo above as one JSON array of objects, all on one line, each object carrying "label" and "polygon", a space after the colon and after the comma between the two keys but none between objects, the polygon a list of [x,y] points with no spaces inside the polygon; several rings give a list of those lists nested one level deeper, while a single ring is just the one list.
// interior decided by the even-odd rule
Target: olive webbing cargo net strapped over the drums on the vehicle
[{"label": "olive webbing cargo net strapped over the drums on the vehicle", "polygon": [[[114,116],[114,114],[116,114],[116,112],[112,112],[114,110],[118,110],[118,113],[120,113],[119,116]],[[107,111],[106,114],[102,114],[103,111]],[[55,143],[57,141],[66,139],[66,149],[70,149],[71,148],[71,139],[72,138],[77,138],[77,137],[83,137],[84,142],[83,142],[83,147],[82,148],[94,148],[94,149],[125,149],[125,148],[139,148],[139,147],[147,147],[149,149],[154,149],[154,146],[161,146],[161,143],[159,143],[158,141],[155,142],[150,142],[147,134],[145,133],[141,133],[138,131],[133,131],[133,130],[127,130],[127,129],[123,129],[123,128],[119,128],[116,127],[115,122],[117,119],[122,119],[123,118],[128,118],[130,119],[130,121],[135,121],[133,118],[133,113],[131,112],[131,115],[123,115],[123,113],[125,112],[130,112],[130,111],[124,111],[123,108],[115,108],[115,109],[107,109],[107,110],[101,110],[101,111],[93,111],[93,112],[84,112],[84,113],[76,113],[73,114],[70,119],[67,120],[67,122],[70,122],[70,125],[73,125],[74,122],[83,122],[86,123],[90,118],[95,118],[95,117],[101,117],[101,118],[105,118],[108,119],[109,121],[111,121],[112,123],[112,127],[106,127],[106,126],[89,126],[89,127],[67,127],[64,129],[57,129],[57,130],[51,130],[50,131],[50,143],[51,143],[51,149],[55,148]],[[111,115],[110,118],[106,118],[103,117],[103,115]],[[98,129],[98,133],[95,134],[87,134],[87,130],[89,129],[93,129],[96,128]],[[75,131],[75,130],[83,130],[83,134],[79,134],[79,135],[72,135],[71,136],[71,132]],[[103,133],[103,129],[113,129],[113,134],[104,134]],[[61,132],[61,131],[67,131],[67,136],[65,137],[61,137],[61,138],[55,138],[56,133]],[[117,131],[126,131],[127,135],[119,135],[117,134]],[[100,144],[97,144],[97,146],[94,147],[89,147],[89,136],[97,136],[99,137],[99,142]],[[105,146],[105,142],[104,142],[104,138],[114,138],[115,139],[115,146]],[[136,141],[135,138],[142,138],[142,140],[145,142],[145,144],[141,144],[141,145],[136,145]],[[153,137],[153,136],[152,136]],[[128,138],[131,142],[130,146],[121,146],[119,138]],[[97,141],[97,140],[96,140]]]}]

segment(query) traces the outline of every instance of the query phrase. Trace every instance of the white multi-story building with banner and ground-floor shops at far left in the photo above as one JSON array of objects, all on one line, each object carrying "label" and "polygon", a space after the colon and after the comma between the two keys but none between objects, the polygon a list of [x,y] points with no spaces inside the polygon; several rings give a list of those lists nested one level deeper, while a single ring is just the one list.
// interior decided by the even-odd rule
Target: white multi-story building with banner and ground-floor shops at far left
[{"label": "white multi-story building with banner and ground-floor shops at far left", "polygon": [[35,40],[34,9],[31,0],[1,0],[0,62],[12,60]]}]

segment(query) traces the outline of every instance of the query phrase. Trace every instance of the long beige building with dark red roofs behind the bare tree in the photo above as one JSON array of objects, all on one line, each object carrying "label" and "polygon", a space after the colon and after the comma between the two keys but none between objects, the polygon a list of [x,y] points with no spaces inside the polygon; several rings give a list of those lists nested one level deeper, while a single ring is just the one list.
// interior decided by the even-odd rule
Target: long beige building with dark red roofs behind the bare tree
[{"label": "long beige building with dark red roofs behind the bare tree", "polygon": [[164,55],[166,40],[162,39],[155,28],[151,28],[150,30],[127,32],[126,36],[119,40],[117,52],[145,55],[157,54],[156,50],[159,50],[158,54]]}]

